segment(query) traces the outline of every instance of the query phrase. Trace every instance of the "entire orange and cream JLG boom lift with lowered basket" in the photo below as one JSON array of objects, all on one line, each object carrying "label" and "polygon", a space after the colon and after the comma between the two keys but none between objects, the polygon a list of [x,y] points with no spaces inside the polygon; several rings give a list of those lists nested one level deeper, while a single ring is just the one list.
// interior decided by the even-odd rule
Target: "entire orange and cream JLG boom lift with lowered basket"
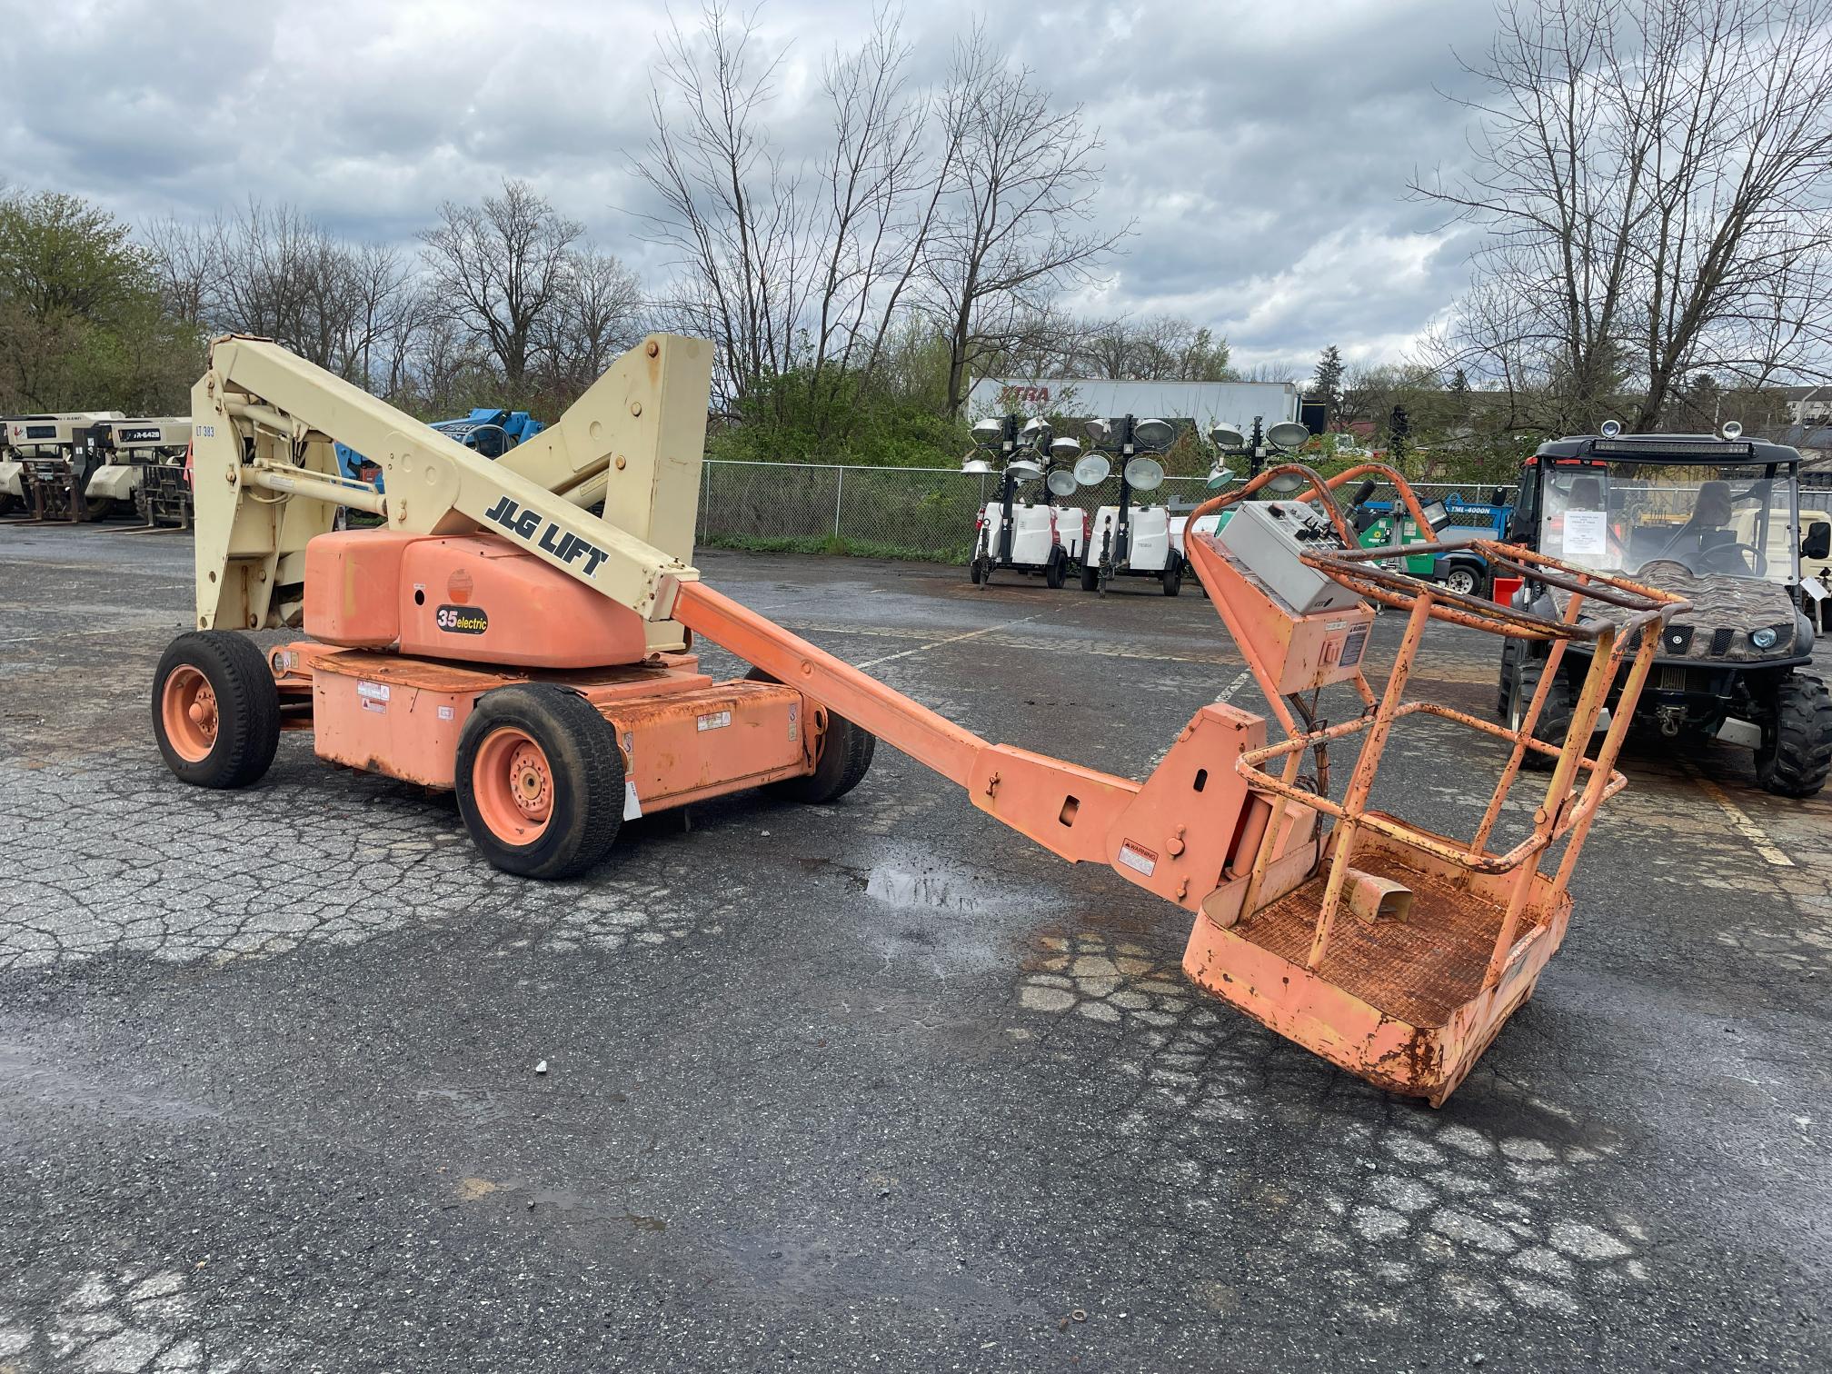
[{"label": "entire orange and cream JLG boom lift with lowered basket", "polygon": [[[1621,786],[1634,696],[1684,601],[1491,540],[1491,566],[1555,588],[1563,614],[1458,597],[1356,548],[1334,489],[1365,473],[1425,524],[1396,473],[1273,467],[1198,515],[1281,474],[1304,498],[1240,504],[1189,553],[1286,738],[1205,705],[1136,782],[991,744],[705,586],[691,557],[709,370],[709,344],[654,335],[489,462],[275,343],[218,339],[192,392],[198,630],[167,650],[152,700],[170,768],[244,786],[282,729],[308,729],[328,760],[454,788],[493,865],[561,878],[641,812],[755,786],[839,797],[881,738],[1044,848],[1191,912],[1183,967],[1211,993],[1372,1083],[1444,1101],[1565,934],[1572,867]],[[335,442],[379,456],[385,491],[343,478]],[[599,500],[603,518],[586,509]],[[339,506],[385,528],[328,533]],[[1379,694],[1361,667],[1369,601],[1407,616]],[[1587,616],[1592,601],[1608,616]],[[1405,702],[1433,619],[1546,641],[1554,658],[1587,641],[1565,746],[1532,738],[1552,672],[1515,731]],[[267,652],[240,634],[295,625],[308,638]],[[694,636],[755,671],[713,682]],[[1356,692],[1356,714],[1325,725],[1332,685]],[[1493,742],[1499,782],[1471,839],[1369,804],[1389,733],[1420,713]],[[1336,801],[1328,749],[1354,735]],[[1552,777],[1526,834],[1491,848],[1530,749],[1555,758]]]}]

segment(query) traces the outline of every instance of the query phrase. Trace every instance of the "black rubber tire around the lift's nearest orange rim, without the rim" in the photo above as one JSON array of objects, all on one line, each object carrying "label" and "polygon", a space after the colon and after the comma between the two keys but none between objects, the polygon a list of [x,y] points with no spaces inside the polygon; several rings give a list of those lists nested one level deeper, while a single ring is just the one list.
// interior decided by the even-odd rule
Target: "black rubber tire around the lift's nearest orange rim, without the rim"
[{"label": "black rubber tire around the lift's nearest orange rim, without the rim", "polygon": [[[504,725],[533,738],[553,769],[548,828],[528,845],[498,839],[476,810],[476,755]],[[484,692],[458,736],[458,813],[471,843],[506,874],[575,878],[603,859],[623,826],[623,779],[617,731],[583,696],[553,683]]]}]

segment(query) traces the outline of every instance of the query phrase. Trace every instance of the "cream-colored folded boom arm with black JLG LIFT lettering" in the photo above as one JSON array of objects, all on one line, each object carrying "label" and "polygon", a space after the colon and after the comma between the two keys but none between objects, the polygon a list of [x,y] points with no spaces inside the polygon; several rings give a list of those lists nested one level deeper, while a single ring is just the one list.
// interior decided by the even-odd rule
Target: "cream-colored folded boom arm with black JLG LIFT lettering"
[{"label": "cream-colored folded boom arm with black JLG LIFT lettering", "polygon": [[[650,621],[652,649],[680,647],[711,374],[711,344],[650,335],[491,462],[271,339],[220,337],[191,392],[198,627],[297,623],[306,542],[350,506],[390,529],[502,535]],[[383,491],[344,478],[333,443],[379,463]]]}]

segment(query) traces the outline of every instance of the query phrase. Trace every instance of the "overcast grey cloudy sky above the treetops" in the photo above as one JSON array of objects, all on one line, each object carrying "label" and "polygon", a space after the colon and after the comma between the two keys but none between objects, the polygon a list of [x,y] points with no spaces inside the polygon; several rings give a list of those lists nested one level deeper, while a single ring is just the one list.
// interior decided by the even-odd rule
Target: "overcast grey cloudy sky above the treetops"
[{"label": "overcast grey cloudy sky above the treetops", "polygon": [[[696,0],[674,5],[691,18]],[[531,181],[639,271],[663,4],[647,0],[0,0],[0,181],[73,191],[128,218],[286,200],[354,238],[407,242],[445,200]],[[1456,293],[1467,238],[1405,200],[1455,167],[1456,53],[1488,0],[905,9],[914,77],[938,81],[984,22],[1011,60],[1079,101],[1105,139],[1103,220],[1138,231],[1097,311],[1209,324],[1238,363],[1400,355]],[[773,108],[791,152],[817,137],[821,60],[868,9],[766,0],[790,60]]]}]

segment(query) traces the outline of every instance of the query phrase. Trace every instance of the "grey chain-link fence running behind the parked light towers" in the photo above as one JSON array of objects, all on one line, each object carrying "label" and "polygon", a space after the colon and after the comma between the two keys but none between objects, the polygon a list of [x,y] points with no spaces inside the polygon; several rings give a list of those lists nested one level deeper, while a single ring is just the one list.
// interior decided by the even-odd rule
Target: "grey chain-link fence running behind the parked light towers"
[{"label": "grey chain-link fence running behind the parked light towers", "polygon": [[[780,553],[857,553],[883,559],[965,562],[973,557],[973,522],[998,498],[997,473],[956,467],[848,467],[839,463],[707,462],[700,487],[700,544]],[[1420,482],[1420,500],[1462,496],[1488,500],[1493,485]],[[1513,500],[1513,487],[1504,487]],[[1041,482],[1020,487],[1042,500]],[[1189,509],[1211,493],[1200,476],[1167,476],[1152,504]],[[1381,487],[1374,500],[1390,500]],[[1077,487],[1057,500],[1094,511],[1119,502],[1119,478]]]}]

